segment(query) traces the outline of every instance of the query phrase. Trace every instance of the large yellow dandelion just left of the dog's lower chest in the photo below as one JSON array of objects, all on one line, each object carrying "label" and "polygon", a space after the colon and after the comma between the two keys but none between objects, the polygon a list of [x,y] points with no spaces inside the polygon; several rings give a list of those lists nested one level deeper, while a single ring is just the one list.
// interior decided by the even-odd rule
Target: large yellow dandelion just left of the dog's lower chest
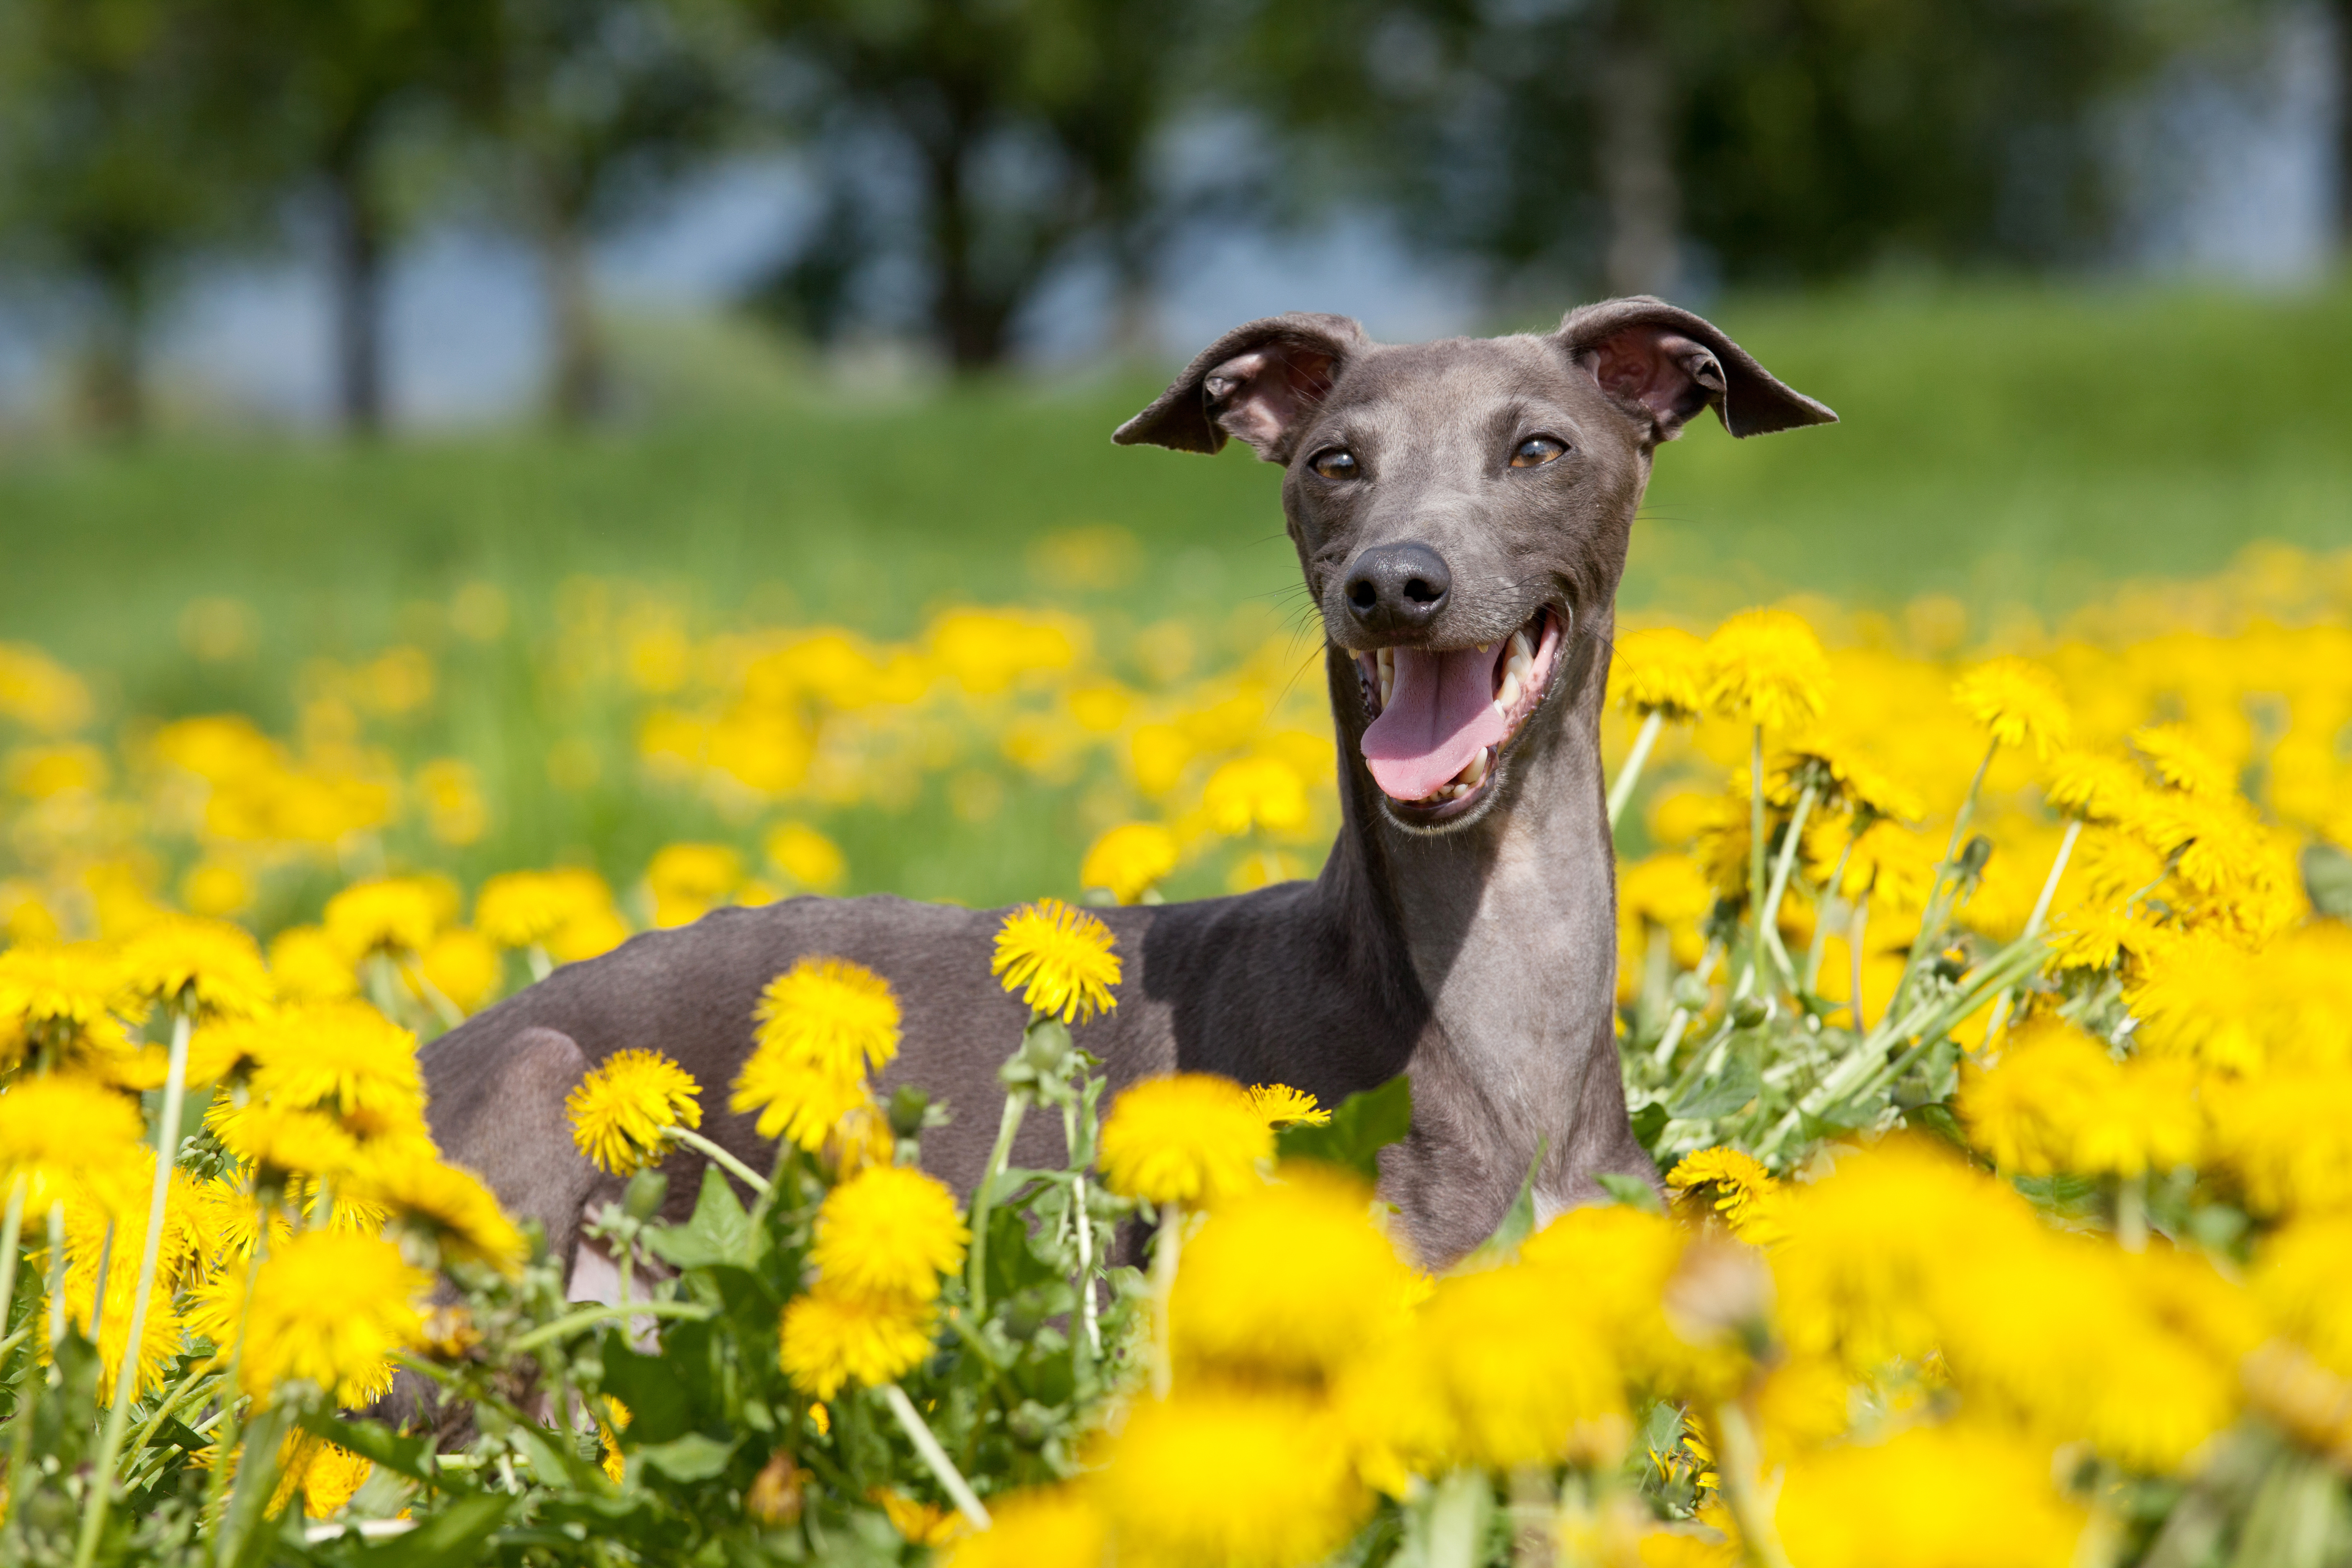
[{"label": "large yellow dandelion just left of the dog's lower chest", "polygon": [[1254,1187],[1275,1133],[1232,1079],[1171,1072],[1110,1103],[1101,1147],[1112,1192],[1197,1208]]}]

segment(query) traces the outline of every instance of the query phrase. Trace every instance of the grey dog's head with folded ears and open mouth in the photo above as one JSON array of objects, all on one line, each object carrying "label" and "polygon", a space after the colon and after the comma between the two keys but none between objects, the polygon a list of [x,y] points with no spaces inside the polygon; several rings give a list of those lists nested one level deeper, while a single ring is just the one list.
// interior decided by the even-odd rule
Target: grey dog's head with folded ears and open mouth
[{"label": "grey dog's head with folded ears and open mouth", "polygon": [[[1712,407],[1731,435],[1837,416],[1656,299],[1543,336],[1374,343],[1343,315],[1235,327],[1112,435],[1284,465],[1308,592],[1357,668],[1357,752],[1388,816],[1479,816],[1606,625],[1651,454]],[[1352,715],[1343,712],[1343,719]]]}]

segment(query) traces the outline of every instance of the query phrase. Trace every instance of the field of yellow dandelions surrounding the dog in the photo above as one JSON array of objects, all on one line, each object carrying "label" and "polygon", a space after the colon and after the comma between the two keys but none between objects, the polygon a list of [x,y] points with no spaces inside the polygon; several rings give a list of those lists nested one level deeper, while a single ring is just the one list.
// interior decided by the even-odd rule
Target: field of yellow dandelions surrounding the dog
[{"label": "field of yellow dandelions surrounding the dog", "polygon": [[[466,590],[303,661],[282,722],[0,644],[0,1561],[2345,1561],[2347,623],[2352,557],[2267,548],[1992,646],[1936,602],[1621,630],[1665,1199],[1522,1201],[1435,1274],[1371,1197],[1402,1084],[1105,1103],[1068,1032],[1122,1001],[1089,903],[1312,875],[1336,830],[1317,649],[1263,618],[884,642],[586,583],[524,635]],[[489,670],[560,719],[529,755],[423,724]],[[988,1107],[880,1098],[889,983],[809,959],[734,1081],[644,1051],[572,1095],[630,1185],[590,1227],[621,1302],[567,1302],[433,1150],[419,1041],[863,886],[924,802],[1065,844],[997,938],[990,1178],[920,1173]],[[691,832],[628,851],[623,804]],[[656,1222],[720,1103],[774,1161]],[[1025,1117],[1061,1168],[1007,1166]]]}]

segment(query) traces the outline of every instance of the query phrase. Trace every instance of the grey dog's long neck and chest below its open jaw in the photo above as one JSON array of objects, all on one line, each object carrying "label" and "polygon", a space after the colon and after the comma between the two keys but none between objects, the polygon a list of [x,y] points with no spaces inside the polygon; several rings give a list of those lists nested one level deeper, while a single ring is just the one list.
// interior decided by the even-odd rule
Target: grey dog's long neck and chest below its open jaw
[{"label": "grey dog's long neck and chest below its open jaw", "polygon": [[[1418,985],[1414,1131],[1388,1152],[1383,1192],[1432,1262],[1494,1229],[1538,1150],[1543,1213],[1590,1197],[1590,1171],[1623,1157],[1616,858],[1599,757],[1609,630],[1606,611],[1578,621],[1550,712],[1529,726],[1472,823],[1406,830],[1362,759],[1343,759],[1345,827],[1319,893],[1364,905],[1350,924],[1376,926]],[[1352,750],[1355,665],[1334,654],[1329,675]]]}]

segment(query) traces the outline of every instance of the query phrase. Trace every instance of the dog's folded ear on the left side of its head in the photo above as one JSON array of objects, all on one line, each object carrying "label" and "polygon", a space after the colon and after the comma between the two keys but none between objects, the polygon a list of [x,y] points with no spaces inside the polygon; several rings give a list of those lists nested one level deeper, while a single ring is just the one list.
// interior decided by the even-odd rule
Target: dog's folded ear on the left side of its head
[{"label": "dog's folded ear on the left side of its head", "polygon": [[1240,435],[1270,463],[1287,463],[1291,435],[1331,393],[1348,360],[1371,346],[1345,315],[1268,315],[1235,327],[1200,355],[1110,440],[1122,447],[1221,451]]}]

